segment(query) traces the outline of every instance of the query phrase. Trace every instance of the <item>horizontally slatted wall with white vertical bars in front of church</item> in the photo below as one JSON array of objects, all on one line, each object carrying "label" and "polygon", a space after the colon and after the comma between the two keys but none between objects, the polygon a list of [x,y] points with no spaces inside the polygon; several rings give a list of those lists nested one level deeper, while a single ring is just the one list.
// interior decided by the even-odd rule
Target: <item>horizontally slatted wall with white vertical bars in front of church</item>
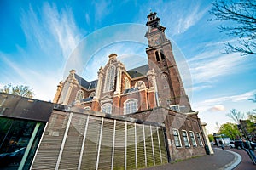
[{"label": "horizontally slatted wall with white vertical bars in front of church", "polygon": [[167,163],[164,127],[53,112],[32,169],[136,169]]}]

